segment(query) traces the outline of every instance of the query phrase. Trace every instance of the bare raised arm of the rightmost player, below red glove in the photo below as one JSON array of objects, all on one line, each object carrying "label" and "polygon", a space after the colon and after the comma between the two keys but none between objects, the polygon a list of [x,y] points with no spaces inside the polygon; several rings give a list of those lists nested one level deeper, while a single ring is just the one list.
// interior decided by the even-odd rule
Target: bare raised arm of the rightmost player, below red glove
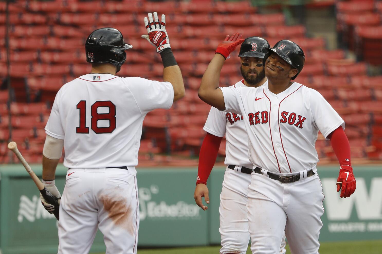
[{"label": "bare raised arm of the rightmost player, below red glove", "polygon": [[224,61],[225,58],[221,54],[215,54],[203,74],[198,91],[202,101],[219,110],[225,109],[223,93],[219,89],[220,72]]}]

